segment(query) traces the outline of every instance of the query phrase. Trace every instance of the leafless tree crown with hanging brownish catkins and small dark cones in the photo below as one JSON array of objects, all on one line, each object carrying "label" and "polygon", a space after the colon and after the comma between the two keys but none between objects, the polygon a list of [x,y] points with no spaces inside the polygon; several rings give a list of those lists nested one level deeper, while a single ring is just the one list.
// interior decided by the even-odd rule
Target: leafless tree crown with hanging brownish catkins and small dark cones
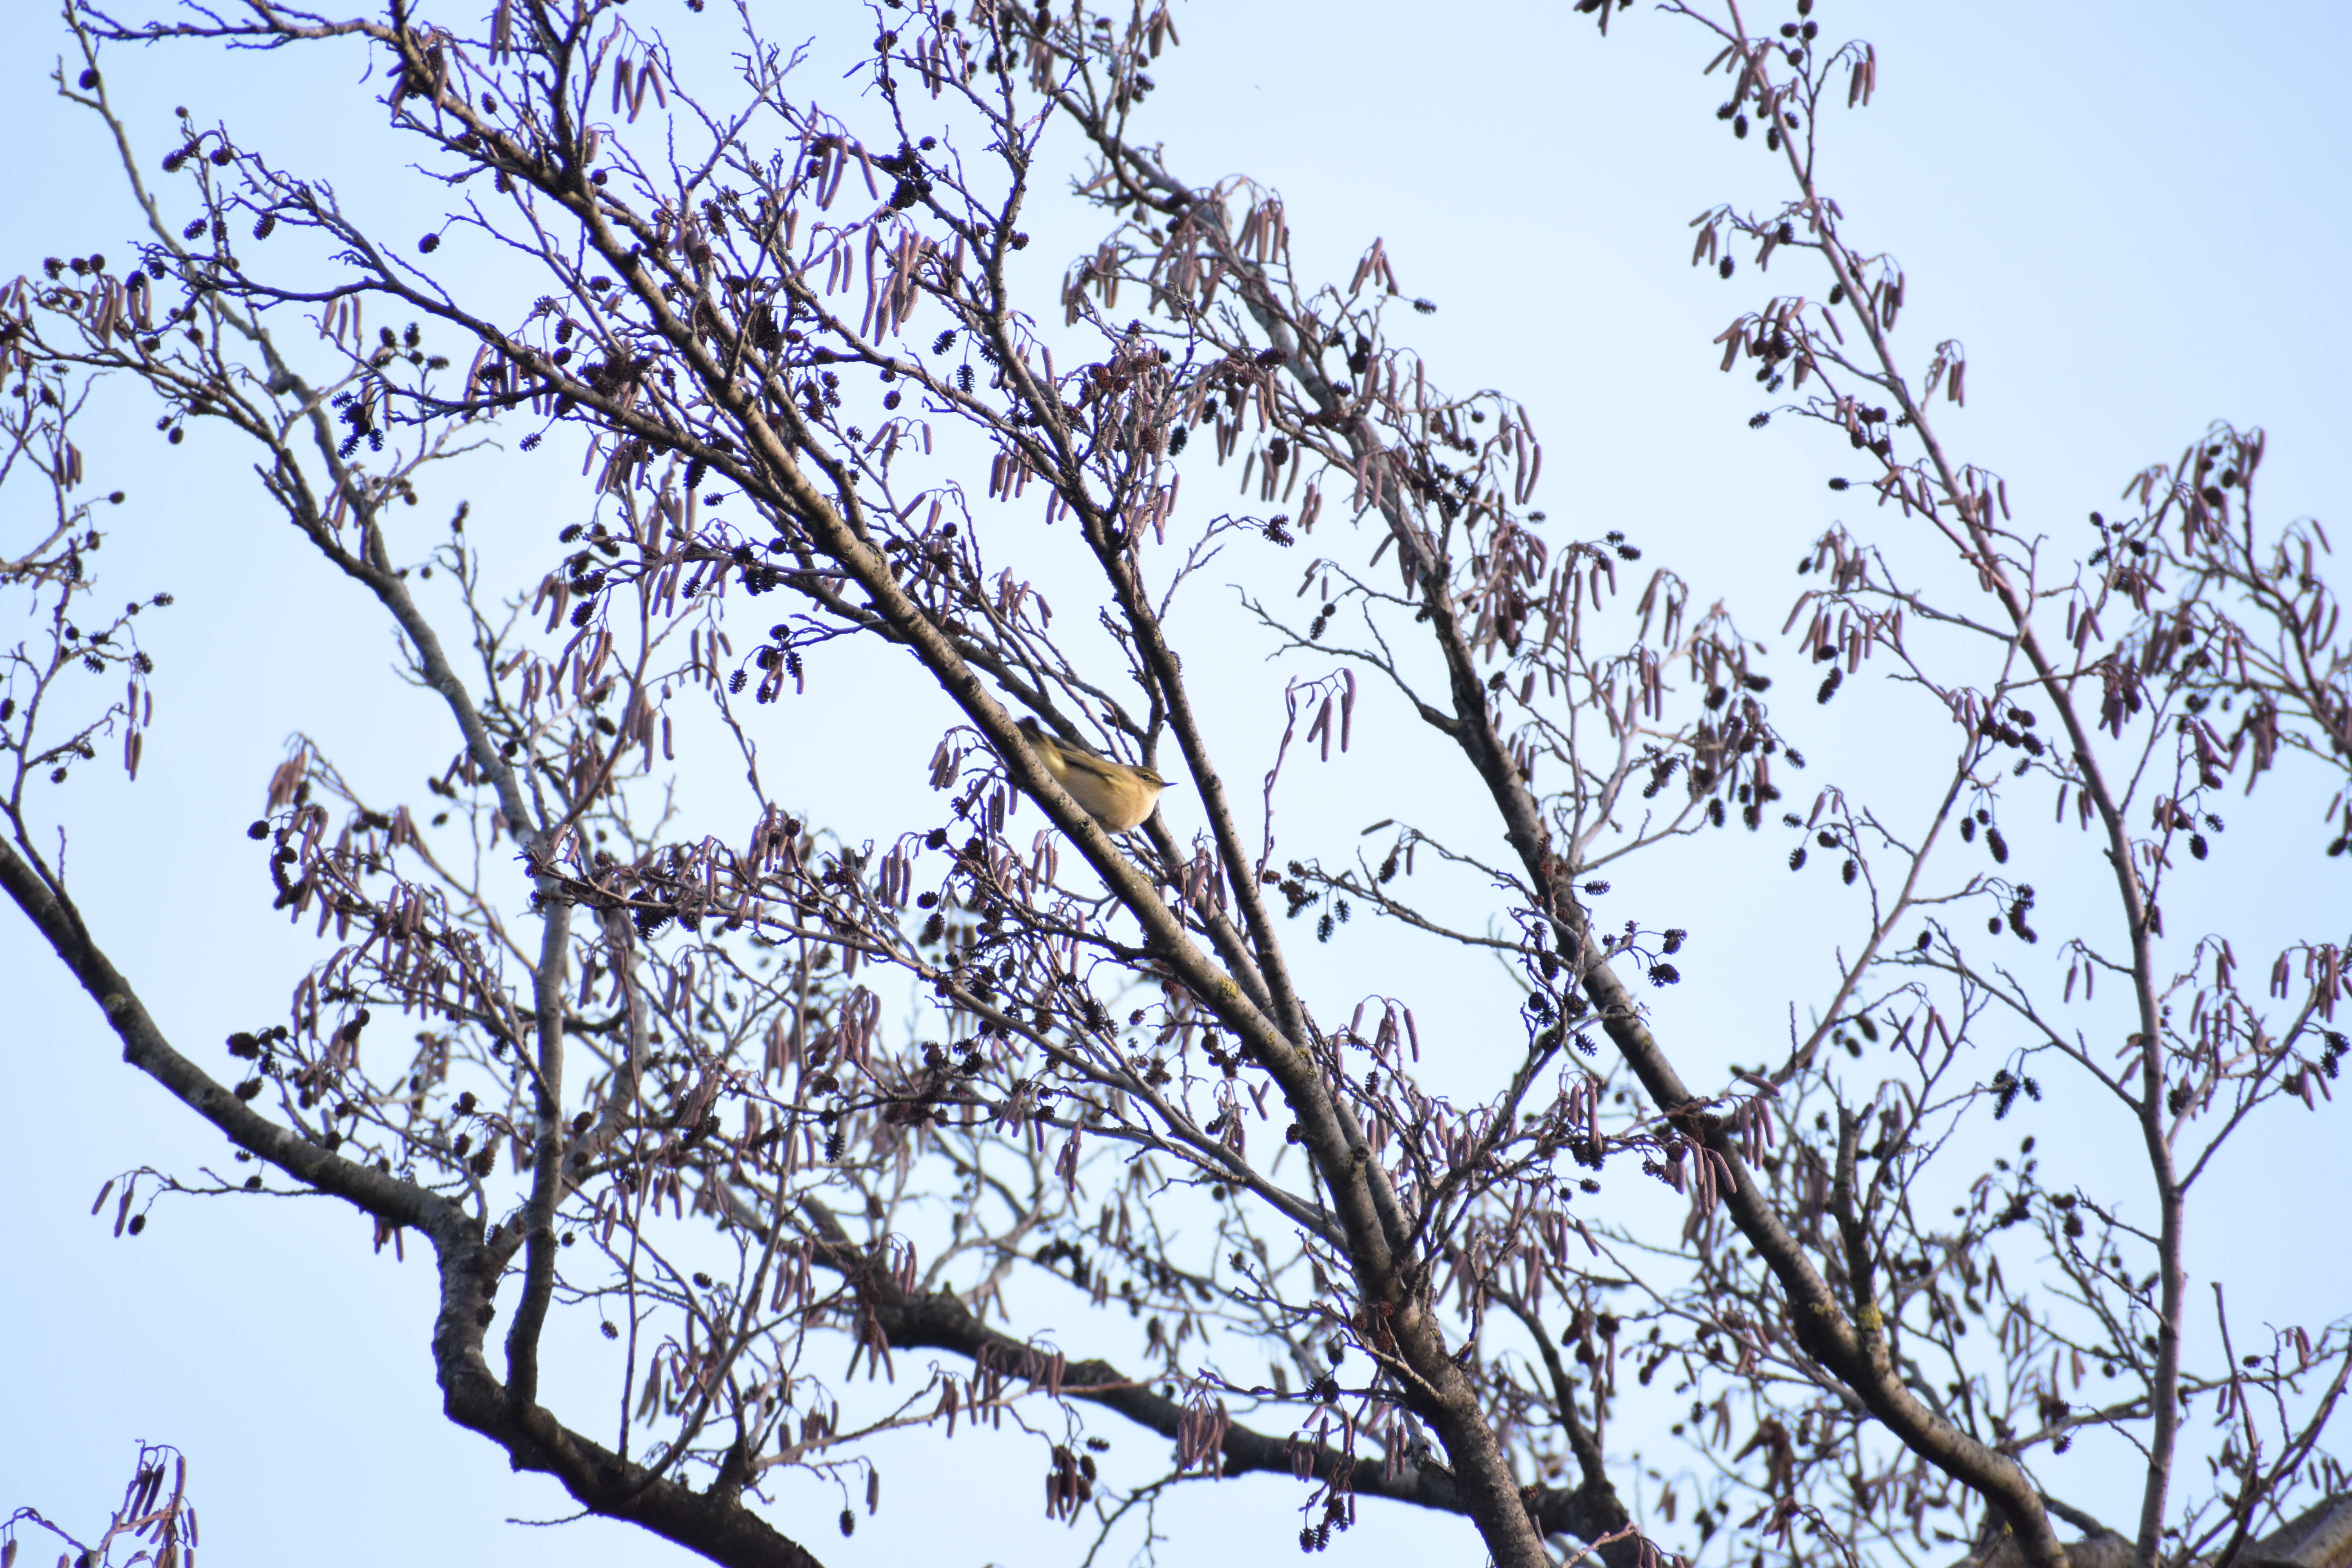
[{"label": "leafless tree crown with hanging brownish catkins and small dark cones", "polygon": [[[1399,341],[1435,306],[1385,244],[1303,277],[1272,190],[1141,139],[1164,5],[884,0],[842,115],[748,7],[713,78],[619,0],[68,5],[59,89],[153,233],[0,294],[0,482],[54,501],[0,559],[35,609],[0,665],[0,882],[254,1166],[127,1173],[115,1227],[299,1187],[421,1241],[449,1418],[720,1563],[821,1561],[793,1472],[849,1533],[870,1439],[985,1425],[1098,1549],[1148,1544],[1174,1486],[1284,1472],[1310,1552],[1423,1507],[1510,1568],[2345,1568],[2352,1321],[2256,1328],[2183,1265],[2230,1140],[2340,1121],[2345,933],[2241,957],[2176,893],[2272,773],[2338,790],[2314,863],[2352,842],[2328,536],[2256,508],[2265,437],[2230,425],[2089,527],[2013,505],[1938,433],[1966,353],[1900,339],[1905,273],[1832,195],[1823,127],[1875,49],[1811,0],[1762,31],[1663,9],[1783,188],[1693,223],[1693,266],[1785,289],[1719,364],[1875,503],[1792,541],[1795,604],[1743,607],[1771,661],[1717,585],[1545,517],[1541,409]],[[134,146],[101,73],[134,45],[365,47],[447,219],[374,233],[299,148],[188,110]],[[1040,200],[1108,226],[1051,299],[1023,294]],[[101,752],[136,776],[160,682],[136,632],[169,595],[96,588],[73,421],[101,376],[162,440],[249,454],[449,724],[426,802],[308,741],[268,780],[254,856],[320,957],[226,1056],[162,1034],[45,839]],[[463,505],[419,543],[459,458],[581,447],[553,545]],[[1284,672],[1263,778],[1209,715],[1268,677],[1178,614],[1225,583]],[[790,696],[856,644],[938,743],[936,809],[851,842],[788,778]],[[1863,799],[1823,719],[1870,677],[1912,755]],[[1277,806],[1371,712],[1451,816],[1350,849]],[[750,820],[682,806],[717,748]],[[1646,999],[1703,945],[1597,910],[1668,875],[1651,851],[1771,835],[1851,893],[1788,994],[1726,1011],[1750,1065],[1700,1081]],[[2037,914],[2027,849],[2079,919]],[[1350,922],[1491,964],[1515,1025],[1477,1093],[1428,1084],[1411,971],[1301,980]],[[1994,1157],[2044,1093],[2138,1164],[2049,1190],[2032,1138]],[[1073,1300],[1091,1345],[1040,1328]],[[616,1342],[616,1415],[543,1394],[555,1314]],[[1684,1448],[1639,1516],[1625,1420]],[[2074,1443],[2136,1516],[2046,1488]]]}]

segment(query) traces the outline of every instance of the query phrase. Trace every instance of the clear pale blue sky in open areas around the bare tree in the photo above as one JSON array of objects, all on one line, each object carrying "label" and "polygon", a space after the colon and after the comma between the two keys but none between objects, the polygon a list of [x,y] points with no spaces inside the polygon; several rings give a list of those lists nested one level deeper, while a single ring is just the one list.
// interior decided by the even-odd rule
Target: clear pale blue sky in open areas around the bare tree
[{"label": "clear pale blue sky in open areas around the bare tree", "polygon": [[[675,0],[640,0],[633,21],[687,42],[720,38],[722,9],[689,19]],[[755,9],[779,31],[863,26],[858,7]],[[1966,341],[1969,409],[1945,435],[2009,477],[2020,515],[2046,517],[2051,534],[2074,529],[2089,508],[2112,505],[2129,473],[2232,418],[2270,428],[2270,508],[2336,520],[2352,451],[2352,129],[2340,87],[2352,9],[1825,0],[1816,14],[1832,35],[1877,42],[1882,61],[1877,103],[1832,127],[1825,186],[1849,235],[1905,261],[1912,355],[1943,336]],[[1529,404],[1550,451],[1555,520],[1581,534],[1630,529],[1651,559],[1693,578],[1700,602],[1731,597],[1771,632],[1802,541],[1837,515],[1820,487],[1835,456],[1799,430],[1750,433],[1755,388],[1712,369],[1710,339],[1759,292],[1745,270],[1731,284],[1691,270],[1684,226],[1712,202],[1776,188],[1755,148],[1733,153],[1708,113],[1722,85],[1698,75],[1710,49],[1696,28],[1637,9],[1602,42],[1562,0],[1218,0],[1181,7],[1178,26],[1185,45],[1155,71],[1152,99],[1171,165],[1192,179],[1247,169],[1282,188],[1301,261],[1341,277],[1362,244],[1385,237],[1404,292],[1442,306],[1411,324],[1439,374]],[[59,40],[42,5],[0,9],[0,275],[42,254],[127,252],[106,148],[42,80]],[[181,101],[360,197],[369,169],[346,162],[381,153],[320,108],[353,82],[318,71],[289,80],[282,66],[207,56],[193,80],[148,92],[151,66],[120,56],[108,80],[139,110],[148,167]],[[818,96],[849,108],[844,85]],[[426,212],[402,207],[416,200],[388,197],[386,221],[405,228]],[[1096,223],[1033,219],[1054,259],[1091,242]],[[1051,301],[1037,310],[1051,315]],[[96,773],[75,785],[75,889],[183,1048],[212,1060],[221,1034],[282,1009],[308,952],[263,919],[240,832],[287,733],[322,733],[362,762],[397,755],[402,736],[428,736],[426,757],[452,743],[419,705],[339,705],[360,682],[381,696],[390,637],[336,644],[355,604],[313,592],[292,543],[252,524],[240,456],[202,440],[165,449],[134,411],[118,444],[92,449],[92,470],[132,489],[108,517],[108,581],[125,595],[169,588],[181,604],[141,628],[162,661],[146,776],[136,788]],[[524,491],[494,496],[520,505]],[[936,724],[903,736],[915,764],[931,738]],[[875,802],[903,799],[917,773],[898,766],[898,783],[877,785],[786,769],[781,792],[849,837],[875,832]],[[2263,896],[2265,910],[2246,910],[2256,926],[2352,907],[2336,886],[2281,882]],[[1757,954],[1745,983],[1769,987],[1769,964]],[[181,1204],[136,1244],[108,1241],[85,1218],[101,1180],[223,1150],[120,1065],[87,999],[12,912],[0,917],[0,1507],[94,1519],[132,1441],[148,1436],[193,1458],[207,1556],[680,1561],[619,1526],[499,1523],[557,1512],[560,1497],[506,1476],[487,1443],[440,1420],[428,1272],[372,1255],[362,1220],[325,1201]],[[1759,1006],[1776,1018],[1783,992]],[[1743,1051],[1726,1044],[1722,1056]],[[2340,1147],[2343,1117],[2338,1105],[2338,1135],[2317,1147]],[[2249,1171],[2232,1213],[2239,1248],[2260,1253],[2286,1234],[2284,1206],[2263,1197],[2281,1168]],[[2279,1222],[2265,1227],[2265,1211]],[[2319,1293],[2296,1298],[2300,1309],[2343,1312],[2340,1272],[2293,1284]],[[346,1335],[360,1359],[343,1354]],[[915,1507],[920,1467],[941,1462],[955,1479]],[[779,1523],[833,1563],[1075,1561],[1073,1537],[1033,1521],[1028,1453],[962,1443],[941,1460],[913,1446],[891,1474],[896,1507],[854,1542],[833,1535],[830,1507]],[[1002,1512],[1011,1516],[993,1505],[1000,1486],[1018,1500]],[[1197,1526],[1223,1509],[1232,1528],[1178,1537],[1164,1561],[1207,1556],[1211,1542],[1228,1561],[1287,1559],[1287,1507],[1272,1481],[1230,1497],[1195,1488],[1171,1519]],[[1367,1505],[1367,1526],[1376,1519],[1338,1537],[1334,1559],[1477,1561],[1454,1521]]]}]

